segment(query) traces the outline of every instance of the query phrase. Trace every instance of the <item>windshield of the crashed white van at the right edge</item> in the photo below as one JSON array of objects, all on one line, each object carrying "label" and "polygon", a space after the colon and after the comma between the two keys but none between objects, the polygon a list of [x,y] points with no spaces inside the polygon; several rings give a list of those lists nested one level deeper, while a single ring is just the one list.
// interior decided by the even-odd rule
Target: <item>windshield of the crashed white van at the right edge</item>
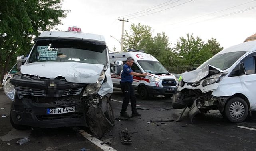
[{"label": "windshield of the crashed white van at the right edge", "polygon": [[225,54],[218,54],[204,62],[201,66],[199,66],[197,69],[204,68],[208,64],[219,68],[220,70],[225,70],[229,68],[232,64],[238,60],[242,55],[244,55],[245,51],[238,51],[238,52],[228,52]]}]

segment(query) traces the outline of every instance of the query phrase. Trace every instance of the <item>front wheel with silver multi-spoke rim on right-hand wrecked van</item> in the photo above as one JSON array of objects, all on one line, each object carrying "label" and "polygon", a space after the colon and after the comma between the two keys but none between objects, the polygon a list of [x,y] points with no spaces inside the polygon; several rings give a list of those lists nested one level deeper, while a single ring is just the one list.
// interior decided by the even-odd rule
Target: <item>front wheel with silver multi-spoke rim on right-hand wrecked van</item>
[{"label": "front wheel with silver multi-spoke rim on right-hand wrecked van", "polygon": [[243,122],[248,114],[248,105],[244,99],[240,97],[234,97],[226,103],[224,112],[226,118],[230,122]]}]

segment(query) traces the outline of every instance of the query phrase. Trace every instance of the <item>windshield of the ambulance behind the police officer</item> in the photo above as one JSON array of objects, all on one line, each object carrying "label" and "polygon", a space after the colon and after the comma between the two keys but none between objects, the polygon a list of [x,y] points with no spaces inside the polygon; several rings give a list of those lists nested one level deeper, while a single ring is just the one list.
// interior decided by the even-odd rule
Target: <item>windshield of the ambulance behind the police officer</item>
[{"label": "windshield of the ambulance behind the police officer", "polygon": [[145,72],[151,74],[169,74],[165,67],[158,61],[139,60],[137,62]]}]

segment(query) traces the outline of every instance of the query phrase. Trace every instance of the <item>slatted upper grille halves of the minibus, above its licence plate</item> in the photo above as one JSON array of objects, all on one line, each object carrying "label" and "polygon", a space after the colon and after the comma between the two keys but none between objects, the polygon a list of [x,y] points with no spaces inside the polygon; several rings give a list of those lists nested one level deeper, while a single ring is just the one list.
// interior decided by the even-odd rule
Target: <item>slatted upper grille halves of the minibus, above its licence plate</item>
[{"label": "slatted upper grille halves of the minibus, above its licence plate", "polygon": [[[79,95],[82,89],[83,87],[75,88],[75,89],[65,89],[64,93],[62,92],[62,90],[58,90],[60,93],[56,93],[56,94],[61,94],[60,96]],[[41,89],[16,86],[16,90],[19,95],[30,95],[30,96],[38,96],[38,97],[48,96],[48,92],[46,90],[41,90]]]}]

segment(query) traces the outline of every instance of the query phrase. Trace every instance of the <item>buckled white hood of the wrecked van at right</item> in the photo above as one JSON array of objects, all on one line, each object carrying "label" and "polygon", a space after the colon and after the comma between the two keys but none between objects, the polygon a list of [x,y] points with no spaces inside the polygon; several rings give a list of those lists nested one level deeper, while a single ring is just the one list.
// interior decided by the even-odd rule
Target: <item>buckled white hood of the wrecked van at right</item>
[{"label": "buckled white hood of the wrecked van at right", "polygon": [[[181,74],[181,77],[184,82],[194,83],[194,82],[198,82],[201,79],[203,79],[204,77],[208,76],[210,70],[216,71],[216,73],[214,73],[214,74],[224,72],[223,70],[220,70],[214,66],[208,65],[202,69],[193,70],[190,72],[184,72],[183,74]],[[214,74],[212,74],[212,75],[214,75]],[[209,76],[211,76],[211,75],[209,75]]]}]

